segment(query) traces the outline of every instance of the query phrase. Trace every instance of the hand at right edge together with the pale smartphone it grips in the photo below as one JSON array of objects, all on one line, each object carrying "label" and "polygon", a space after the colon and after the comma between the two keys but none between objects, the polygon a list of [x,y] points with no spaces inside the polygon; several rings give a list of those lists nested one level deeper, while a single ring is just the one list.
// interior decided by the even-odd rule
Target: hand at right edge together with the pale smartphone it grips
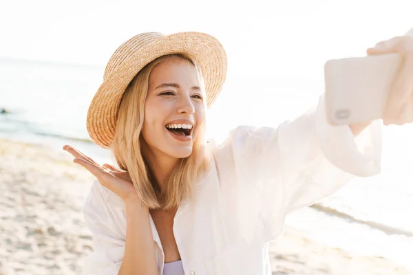
[{"label": "hand at right edge together with the pale smartphone it grips", "polygon": [[413,29],[377,43],[367,54],[326,63],[328,122],[413,122]]}]

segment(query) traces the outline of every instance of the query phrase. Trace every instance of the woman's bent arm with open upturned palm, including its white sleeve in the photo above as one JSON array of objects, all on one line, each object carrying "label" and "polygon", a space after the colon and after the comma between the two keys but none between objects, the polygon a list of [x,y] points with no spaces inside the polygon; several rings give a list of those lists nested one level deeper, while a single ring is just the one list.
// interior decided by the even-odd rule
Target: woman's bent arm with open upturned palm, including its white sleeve
[{"label": "woman's bent arm with open upturned palm, including its white sleeve", "polygon": [[100,166],[72,146],[63,150],[96,177],[83,208],[94,241],[85,274],[158,274],[149,208],[141,206],[127,171]]}]

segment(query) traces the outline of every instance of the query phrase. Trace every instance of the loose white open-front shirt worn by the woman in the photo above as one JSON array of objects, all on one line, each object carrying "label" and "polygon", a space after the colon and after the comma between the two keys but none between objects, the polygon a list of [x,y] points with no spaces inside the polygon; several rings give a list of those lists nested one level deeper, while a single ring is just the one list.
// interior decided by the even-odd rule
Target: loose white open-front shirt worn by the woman
[{"label": "loose white open-front shirt worn by the woman", "polygon": [[[374,121],[356,138],[349,126],[326,122],[317,109],[278,127],[240,126],[195,182],[194,202],[184,201],[173,223],[185,274],[271,274],[268,241],[282,232],[289,212],[331,195],[352,177],[381,169],[381,126]],[[94,236],[85,274],[118,274],[125,252],[125,203],[94,181],[84,208]],[[150,220],[159,274],[162,245]]]}]

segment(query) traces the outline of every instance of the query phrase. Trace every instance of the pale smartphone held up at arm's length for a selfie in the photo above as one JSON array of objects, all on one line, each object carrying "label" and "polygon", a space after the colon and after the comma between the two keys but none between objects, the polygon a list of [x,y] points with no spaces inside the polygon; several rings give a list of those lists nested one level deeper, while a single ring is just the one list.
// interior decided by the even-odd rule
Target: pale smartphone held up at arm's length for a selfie
[{"label": "pale smartphone held up at arm's length for a selfie", "polygon": [[327,121],[343,125],[383,118],[402,61],[400,54],[327,61],[324,65]]}]

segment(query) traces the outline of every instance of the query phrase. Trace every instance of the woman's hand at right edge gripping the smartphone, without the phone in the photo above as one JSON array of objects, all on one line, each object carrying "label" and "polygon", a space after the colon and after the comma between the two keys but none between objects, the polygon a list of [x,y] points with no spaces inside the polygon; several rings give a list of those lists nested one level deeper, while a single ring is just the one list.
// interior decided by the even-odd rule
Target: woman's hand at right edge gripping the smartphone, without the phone
[{"label": "woman's hand at right edge gripping the smartphone, without the phone", "polygon": [[367,50],[368,55],[398,53],[403,65],[394,80],[383,115],[385,125],[413,122],[413,36],[396,36]]}]

